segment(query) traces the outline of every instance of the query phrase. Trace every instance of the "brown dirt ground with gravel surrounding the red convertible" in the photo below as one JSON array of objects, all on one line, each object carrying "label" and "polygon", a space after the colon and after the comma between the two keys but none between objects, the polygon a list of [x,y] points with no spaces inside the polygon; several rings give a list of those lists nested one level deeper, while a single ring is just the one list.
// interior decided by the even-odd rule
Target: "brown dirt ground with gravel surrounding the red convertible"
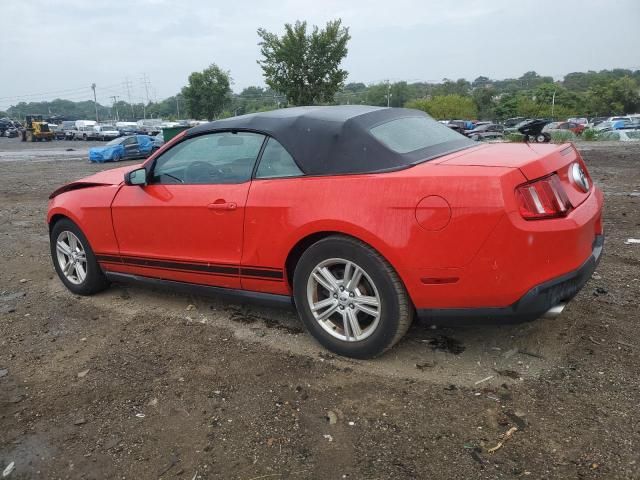
[{"label": "brown dirt ground with gravel surrounding the red convertible", "polygon": [[81,142],[14,140],[0,139],[6,478],[640,478],[640,245],[625,244],[640,238],[640,145],[580,146],[607,239],[560,317],[416,323],[353,361],[286,310],[121,285],[74,296],[49,257],[47,196],[114,165]]}]

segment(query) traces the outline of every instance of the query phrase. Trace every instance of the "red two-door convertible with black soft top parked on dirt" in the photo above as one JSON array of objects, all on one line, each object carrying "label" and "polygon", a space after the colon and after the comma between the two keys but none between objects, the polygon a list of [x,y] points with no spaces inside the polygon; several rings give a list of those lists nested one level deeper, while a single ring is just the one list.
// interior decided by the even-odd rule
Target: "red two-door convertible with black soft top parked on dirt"
[{"label": "red two-door convertible with black soft top parked on dirt", "polygon": [[477,142],[406,109],[219,120],[50,197],[55,269],[89,295],[141,281],[294,304],[367,358],[434,324],[558,313],[603,248],[602,192],[570,145]]}]

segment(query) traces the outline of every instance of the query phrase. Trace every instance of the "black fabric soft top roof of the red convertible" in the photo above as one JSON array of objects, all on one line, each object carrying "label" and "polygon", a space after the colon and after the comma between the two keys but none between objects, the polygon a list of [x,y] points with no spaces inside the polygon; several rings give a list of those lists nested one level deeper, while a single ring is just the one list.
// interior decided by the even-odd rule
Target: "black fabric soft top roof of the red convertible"
[{"label": "black fabric soft top roof of the red convertible", "polygon": [[295,107],[217,120],[189,129],[186,136],[225,130],[264,133],[278,140],[307,175],[399,170],[473,145],[460,135],[456,141],[401,154],[370,132],[372,127],[406,117],[431,119],[422,111],[404,108]]}]

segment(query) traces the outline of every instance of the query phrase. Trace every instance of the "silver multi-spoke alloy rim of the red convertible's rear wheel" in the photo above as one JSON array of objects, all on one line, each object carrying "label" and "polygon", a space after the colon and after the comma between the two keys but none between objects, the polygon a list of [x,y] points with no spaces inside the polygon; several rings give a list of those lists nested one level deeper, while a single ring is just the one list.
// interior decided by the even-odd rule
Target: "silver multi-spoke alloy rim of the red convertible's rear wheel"
[{"label": "silver multi-spoke alloy rim of the red convertible's rear wheel", "polygon": [[307,301],[320,326],[345,342],[364,340],[380,323],[378,289],[350,260],[330,258],[316,265],[307,280]]}]

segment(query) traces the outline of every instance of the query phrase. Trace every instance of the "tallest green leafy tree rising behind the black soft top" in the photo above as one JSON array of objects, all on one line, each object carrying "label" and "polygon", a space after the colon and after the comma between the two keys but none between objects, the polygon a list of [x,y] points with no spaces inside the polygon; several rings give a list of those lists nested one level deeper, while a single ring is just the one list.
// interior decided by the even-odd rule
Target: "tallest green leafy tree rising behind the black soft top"
[{"label": "tallest green leafy tree rising behind the black soft top", "polygon": [[260,28],[260,53],[267,85],[286,95],[294,105],[331,102],[347,78],[340,68],[347,55],[349,29],[341,20],[328,22],[324,29],[314,26],[307,33],[307,22],[286,24],[285,34]]}]

